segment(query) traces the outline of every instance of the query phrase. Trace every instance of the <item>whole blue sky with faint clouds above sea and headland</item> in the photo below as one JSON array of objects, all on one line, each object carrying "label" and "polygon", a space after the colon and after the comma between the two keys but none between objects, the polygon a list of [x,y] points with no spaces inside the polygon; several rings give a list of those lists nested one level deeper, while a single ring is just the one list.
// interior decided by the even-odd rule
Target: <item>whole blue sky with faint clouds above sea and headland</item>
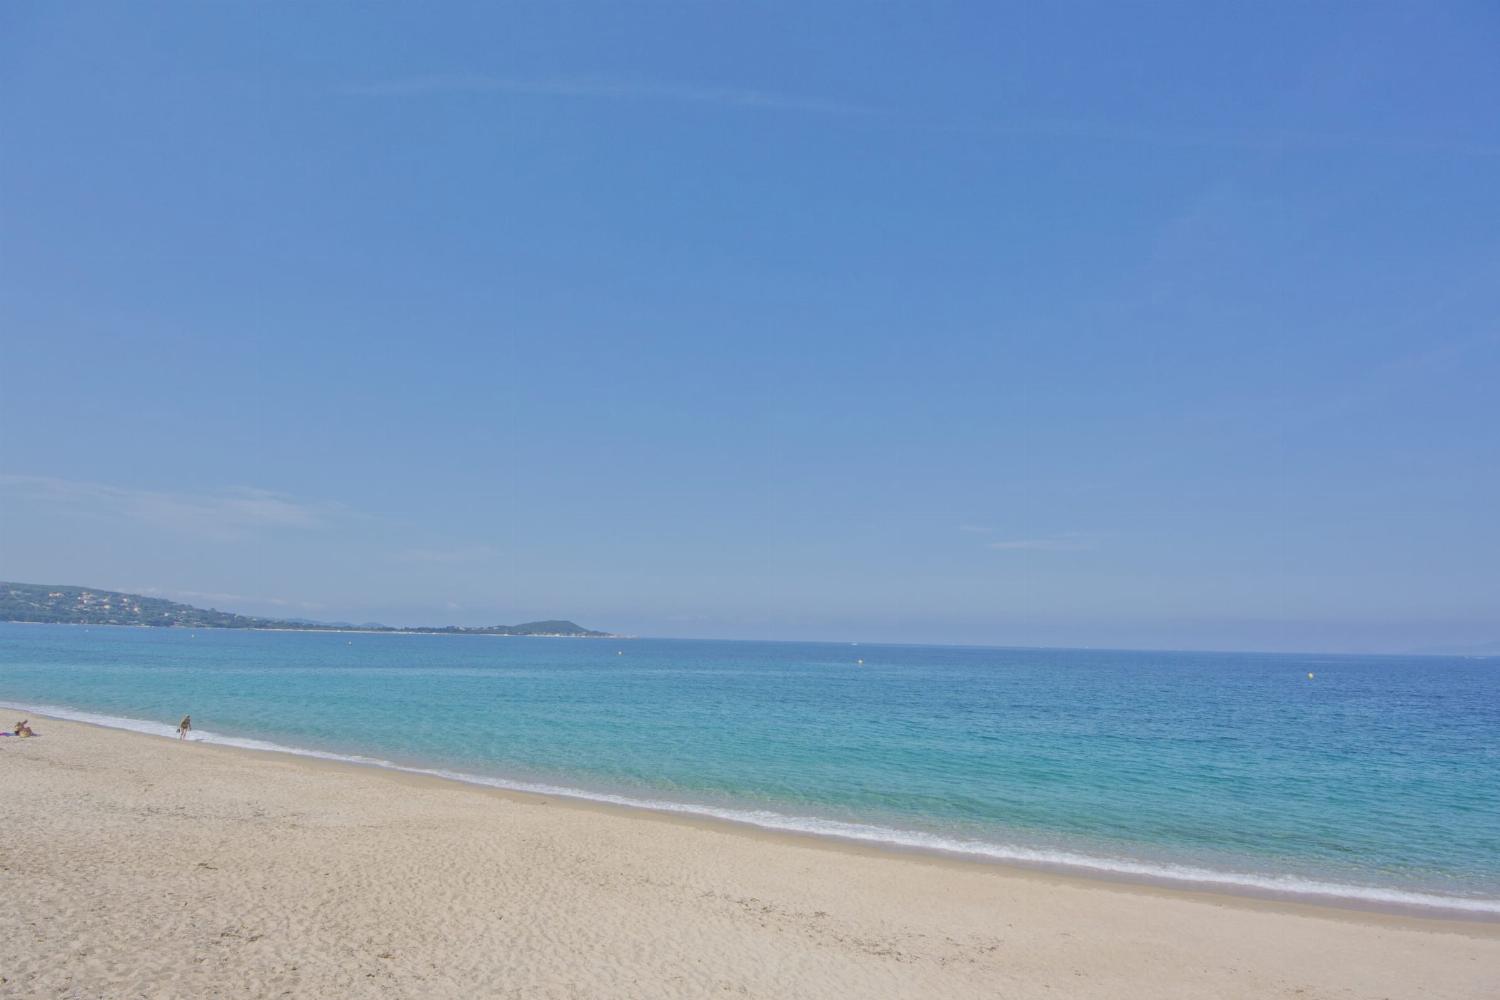
[{"label": "whole blue sky with faint clouds above sea and headland", "polygon": [[0,4],[0,579],[1500,640],[1492,3]]}]

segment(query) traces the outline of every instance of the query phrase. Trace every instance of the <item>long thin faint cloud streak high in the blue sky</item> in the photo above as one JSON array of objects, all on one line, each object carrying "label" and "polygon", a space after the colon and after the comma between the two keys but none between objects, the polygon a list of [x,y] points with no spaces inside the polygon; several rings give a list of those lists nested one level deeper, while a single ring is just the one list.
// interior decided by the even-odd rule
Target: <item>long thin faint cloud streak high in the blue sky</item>
[{"label": "long thin faint cloud streak high in the blue sky", "polygon": [[693,87],[622,79],[554,78],[513,79],[480,73],[406,76],[345,87],[354,97],[428,97],[441,94],[500,94],[510,97],[568,97],[579,100],[699,103],[750,111],[798,111],[804,114],[873,115],[876,108],[766,90]]}]

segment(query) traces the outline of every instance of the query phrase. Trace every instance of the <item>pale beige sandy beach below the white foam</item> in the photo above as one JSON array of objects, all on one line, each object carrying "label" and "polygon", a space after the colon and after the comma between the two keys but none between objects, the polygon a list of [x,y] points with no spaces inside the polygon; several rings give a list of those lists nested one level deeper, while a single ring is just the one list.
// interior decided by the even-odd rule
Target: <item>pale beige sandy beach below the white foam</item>
[{"label": "pale beige sandy beach below the white foam", "polygon": [[33,720],[4,997],[1500,997],[1500,927],[1095,883]]}]

